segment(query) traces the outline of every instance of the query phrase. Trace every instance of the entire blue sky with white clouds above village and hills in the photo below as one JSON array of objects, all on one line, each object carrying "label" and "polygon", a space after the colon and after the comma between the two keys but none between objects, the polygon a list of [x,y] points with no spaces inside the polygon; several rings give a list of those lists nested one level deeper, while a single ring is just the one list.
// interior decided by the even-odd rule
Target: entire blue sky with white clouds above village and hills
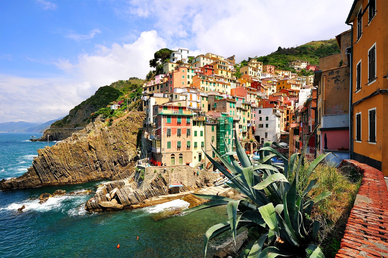
[{"label": "entire blue sky with white clouds above village and hills", "polygon": [[0,122],[64,116],[100,86],[144,78],[160,48],[241,61],[334,38],[352,2],[1,0]]}]

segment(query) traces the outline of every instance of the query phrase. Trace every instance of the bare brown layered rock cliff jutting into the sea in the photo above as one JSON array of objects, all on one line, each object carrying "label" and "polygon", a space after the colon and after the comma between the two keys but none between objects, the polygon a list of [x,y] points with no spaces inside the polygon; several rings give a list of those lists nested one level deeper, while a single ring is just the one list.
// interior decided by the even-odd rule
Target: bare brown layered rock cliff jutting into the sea
[{"label": "bare brown layered rock cliff jutting into the sea", "polygon": [[52,147],[38,150],[32,166],[18,178],[0,181],[0,189],[81,183],[131,174],[144,112],[132,112],[111,126],[96,119]]}]

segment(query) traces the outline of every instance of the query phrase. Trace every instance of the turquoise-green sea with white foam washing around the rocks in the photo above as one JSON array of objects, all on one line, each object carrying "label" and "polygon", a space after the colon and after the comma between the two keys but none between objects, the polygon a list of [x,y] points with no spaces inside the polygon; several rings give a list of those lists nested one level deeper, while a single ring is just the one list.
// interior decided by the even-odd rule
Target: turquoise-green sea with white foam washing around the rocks
[{"label": "turquoise-green sea with white foam washing around the rocks", "polygon": [[[31,135],[0,133],[0,178],[23,174],[31,165],[31,155],[47,145],[47,142],[27,142]],[[35,135],[40,137],[41,134]],[[103,213],[83,209],[94,193],[67,194],[50,198],[43,204],[37,200],[40,194],[57,189],[67,193],[95,191],[101,182],[0,191],[0,256],[201,257],[204,232],[227,219],[226,207],[165,215],[168,210],[187,207],[188,203],[182,200]],[[22,205],[26,208],[18,212],[17,208]],[[230,233],[211,241],[208,256],[229,237]]]}]

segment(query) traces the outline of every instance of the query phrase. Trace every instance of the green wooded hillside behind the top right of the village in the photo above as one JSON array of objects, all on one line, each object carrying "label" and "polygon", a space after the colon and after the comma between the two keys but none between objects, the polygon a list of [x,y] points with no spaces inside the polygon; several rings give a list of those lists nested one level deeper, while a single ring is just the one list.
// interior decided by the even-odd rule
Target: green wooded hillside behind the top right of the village
[{"label": "green wooded hillside behind the top right of the village", "polygon": [[294,60],[309,61],[312,65],[319,65],[319,58],[340,52],[336,39],[311,41],[296,48],[277,48],[275,52],[266,56],[255,57],[267,65],[275,65],[282,70],[293,70],[287,64]]}]

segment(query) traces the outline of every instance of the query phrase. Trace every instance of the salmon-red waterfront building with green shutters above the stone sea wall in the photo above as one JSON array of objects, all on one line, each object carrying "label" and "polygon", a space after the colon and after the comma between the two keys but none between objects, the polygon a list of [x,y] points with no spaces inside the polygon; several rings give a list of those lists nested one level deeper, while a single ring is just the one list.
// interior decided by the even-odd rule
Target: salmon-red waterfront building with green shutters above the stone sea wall
[{"label": "salmon-red waterfront building with green shutters above the stone sea wall", "polygon": [[152,130],[152,163],[173,166],[192,163],[192,116],[184,106],[154,105]]}]

